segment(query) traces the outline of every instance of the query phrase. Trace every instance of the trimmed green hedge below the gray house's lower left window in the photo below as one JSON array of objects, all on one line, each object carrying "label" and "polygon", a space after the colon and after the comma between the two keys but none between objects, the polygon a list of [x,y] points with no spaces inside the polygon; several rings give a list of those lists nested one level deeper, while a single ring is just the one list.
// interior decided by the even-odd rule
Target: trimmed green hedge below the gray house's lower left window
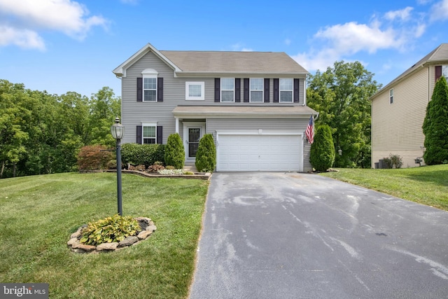
[{"label": "trimmed green hedge below the gray house's lower left window", "polygon": [[163,161],[165,146],[163,144],[123,144],[121,160],[125,165],[145,165],[149,167],[154,162]]}]

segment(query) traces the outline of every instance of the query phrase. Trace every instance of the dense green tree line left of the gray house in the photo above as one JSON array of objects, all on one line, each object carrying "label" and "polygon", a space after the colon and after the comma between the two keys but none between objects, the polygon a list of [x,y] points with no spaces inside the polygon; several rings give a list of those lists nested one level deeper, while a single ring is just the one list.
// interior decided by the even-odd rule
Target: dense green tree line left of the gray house
[{"label": "dense green tree line left of the gray house", "polygon": [[0,79],[0,178],[75,171],[81,147],[113,148],[110,128],[120,116],[120,103],[108,87],[89,99]]}]

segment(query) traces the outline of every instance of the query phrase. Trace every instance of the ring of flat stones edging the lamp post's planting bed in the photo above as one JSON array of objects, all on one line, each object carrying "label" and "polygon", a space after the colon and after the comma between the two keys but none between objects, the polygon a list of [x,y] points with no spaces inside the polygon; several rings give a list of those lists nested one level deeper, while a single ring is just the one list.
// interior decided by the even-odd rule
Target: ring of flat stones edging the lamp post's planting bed
[{"label": "ring of flat stones edging the lamp post's planting bed", "polygon": [[71,234],[69,242],[67,242],[67,246],[71,249],[71,251],[76,253],[99,253],[99,252],[111,252],[123,249],[127,246],[133,246],[135,244],[139,244],[139,242],[144,241],[149,236],[157,230],[154,222],[150,218],[146,217],[136,217],[134,218],[140,225],[141,231],[137,234],[137,236],[130,236],[124,239],[121,242],[112,242],[112,243],[102,243],[98,246],[82,244],[79,242],[81,238],[81,230],[87,225],[82,225],[76,232]]}]

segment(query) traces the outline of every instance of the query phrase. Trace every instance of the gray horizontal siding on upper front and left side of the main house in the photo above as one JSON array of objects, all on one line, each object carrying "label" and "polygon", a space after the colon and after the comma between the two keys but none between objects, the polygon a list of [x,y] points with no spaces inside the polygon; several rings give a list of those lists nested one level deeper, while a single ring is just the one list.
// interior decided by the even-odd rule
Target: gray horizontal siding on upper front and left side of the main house
[{"label": "gray horizontal siding on upper front and left side of the main house", "polygon": [[[163,102],[137,102],[137,78],[142,77],[141,71],[144,69],[155,69],[158,71],[158,76],[164,78],[163,88]],[[219,77],[219,76],[217,76]],[[241,75],[230,76],[228,78],[247,78],[241,77]],[[253,77],[255,78],[255,77]],[[264,78],[264,77],[258,77]],[[152,52],[147,53],[139,61],[132,64],[126,70],[126,76],[122,80],[122,123],[126,127],[126,134],[123,139],[124,143],[130,143],[136,141],[136,127],[141,123],[158,123],[163,127],[163,143],[166,144],[167,137],[176,130],[176,122],[172,111],[179,105],[263,105],[263,106],[276,106],[276,105],[302,105],[304,103],[304,80],[305,76],[298,76],[300,78],[300,95],[299,103],[273,103],[273,80],[269,80],[269,103],[244,103],[244,83],[241,80],[241,102],[240,103],[215,103],[214,102],[214,76],[210,78],[175,78],[174,70],[169,67],[165,62],[162,62]],[[186,100],[185,85],[186,81],[203,81],[205,89],[205,99],[201,101]],[[239,120],[238,120],[239,121]],[[242,120],[241,120],[242,121]],[[249,123],[253,123],[254,120],[249,120]],[[230,123],[235,123],[235,120],[231,120]],[[262,120],[261,123],[274,123]],[[306,121],[304,125],[306,126]],[[257,124],[253,125],[256,127]],[[267,125],[266,125],[267,126]],[[222,129],[221,129],[222,130]],[[246,129],[247,130],[247,129]],[[303,128],[304,130],[304,128]],[[182,124],[179,123],[179,133],[182,134]],[[307,162],[308,159],[305,159]]]}]

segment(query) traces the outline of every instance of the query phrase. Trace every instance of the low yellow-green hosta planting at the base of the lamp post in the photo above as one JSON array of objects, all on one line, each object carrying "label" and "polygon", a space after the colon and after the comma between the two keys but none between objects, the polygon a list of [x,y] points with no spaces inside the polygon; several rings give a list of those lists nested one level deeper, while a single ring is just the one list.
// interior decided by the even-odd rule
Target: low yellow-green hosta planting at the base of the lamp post
[{"label": "low yellow-green hosta planting at the base of the lamp post", "polygon": [[81,230],[80,243],[97,246],[102,243],[120,242],[126,237],[137,235],[141,230],[139,222],[131,216],[114,215],[88,223]]}]

